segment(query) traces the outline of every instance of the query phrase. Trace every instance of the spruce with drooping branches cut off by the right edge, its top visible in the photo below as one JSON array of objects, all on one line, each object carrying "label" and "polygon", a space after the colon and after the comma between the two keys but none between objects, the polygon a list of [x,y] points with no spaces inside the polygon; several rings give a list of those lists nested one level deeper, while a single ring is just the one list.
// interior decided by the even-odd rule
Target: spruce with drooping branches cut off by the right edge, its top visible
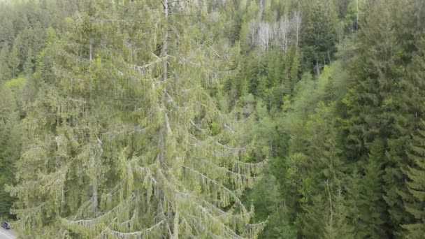
[{"label": "spruce with drooping branches cut off by the right edge, its top visible", "polygon": [[[407,214],[405,217],[408,218],[403,221],[402,225],[403,229],[405,229],[402,235],[406,238],[421,238],[424,235],[423,224],[421,224],[420,219],[424,205],[417,198],[417,194],[413,193],[415,190],[421,190],[419,184],[417,184],[419,181],[415,182],[415,180],[419,180],[417,176],[422,171],[420,164],[420,157],[422,157],[422,152],[420,152],[423,137],[422,130],[424,129],[422,101],[425,99],[423,80],[425,76],[425,41],[422,36],[423,34],[417,34],[417,37],[414,38],[417,51],[412,54],[412,63],[406,69],[406,75],[401,80],[403,92],[399,95],[401,100],[397,103],[402,109],[402,114],[396,117],[397,121],[394,127],[399,134],[404,134],[400,137],[400,141],[406,145],[403,145],[405,146],[403,147],[405,152],[402,154],[406,158],[405,165],[400,169],[403,170],[403,175],[405,176],[405,189],[398,191],[398,194],[403,198],[405,214]],[[410,131],[412,136],[408,137]],[[414,175],[417,176],[415,177]]]}]

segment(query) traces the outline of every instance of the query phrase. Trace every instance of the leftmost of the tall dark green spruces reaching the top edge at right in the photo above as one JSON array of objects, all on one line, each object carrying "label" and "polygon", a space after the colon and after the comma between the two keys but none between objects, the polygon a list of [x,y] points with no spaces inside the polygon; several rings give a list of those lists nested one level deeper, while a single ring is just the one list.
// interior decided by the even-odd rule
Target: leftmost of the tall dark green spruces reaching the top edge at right
[{"label": "leftmost of the tall dark green spruces reaching the top edge at right", "polygon": [[[391,142],[391,138],[396,138],[396,131],[394,131],[394,116],[400,115],[397,112],[398,108],[394,107],[396,99],[394,92],[398,88],[398,81],[401,78],[403,66],[400,65],[402,61],[398,61],[393,57],[397,45],[396,30],[394,24],[396,20],[396,7],[394,3],[387,1],[376,1],[370,6],[367,17],[361,20],[361,27],[358,34],[356,34],[357,48],[359,54],[354,55],[350,59],[350,75],[352,80],[349,82],[349,89],[343,103],[347,106],[347,119],[343,121],[344,127],[348,129],[347,135],[347,154],[351,155],[353,161],[359,161],[360,164],[377,164],[369,161],[369,152],[373,150],[370,148],[374,145],[375,140],[382,142],[382,152],[375,155],[379,156],[382,167],[385,168],[384,173],[370,173],[370,180],[377,180],[383,182],[384,187],[380,191],[375,191],[369,195],[371,198],[368,201],[368,210],[376,208],[377,215],[372,222],[378,226],[375,229],[366,229],[367,233],[377,233],[375,235],[387,236],[388,230],[386,225],[391,224],[392,227],[398,228],[399,224],[403,221],[403,208],[401,197],[398,191],[403,190],[403,158],[399,155],[392,153],[399,151],[403,143],[397,143],[397,146]],[[393,6],[394,5],[394,6]],[[389,153],[385,153],[389,152]],[[368,165],[378,169],[381,166]],[[380,175],[381,179],[376,178]],[[369,177],[366,175],[366,178]],[[362,181],[365,179],[363,178]],[[382,181],[383,180],[383,181]],[[373,182],[372,181],[372,182]],[[370,183],[372,183],[370,182]],[[377,185],[378,182],[373,182]],[[370,185],[372,186],[372,185]],[[368,192],[372,194],[372,192]],[[367,198],[368,196],[366,196]],[[384,198],[384,203],[380,198]],[[373,203],[377,203],[373,205]],[[384,208],[384,210],[382,210]],[[382,213],[381,213],[382,212]],[[380,216],[378,216],[380,215]],[[368,212],[364,216],[370,217]],[[384,220],[384,222],[379,222]],[[371,217],[370,219],[373,219]],[[382,234],[382,231],[385,231]],[[392,231],[394,233],[397,229]],[[371,234],[373,235],[373,234]]]}]

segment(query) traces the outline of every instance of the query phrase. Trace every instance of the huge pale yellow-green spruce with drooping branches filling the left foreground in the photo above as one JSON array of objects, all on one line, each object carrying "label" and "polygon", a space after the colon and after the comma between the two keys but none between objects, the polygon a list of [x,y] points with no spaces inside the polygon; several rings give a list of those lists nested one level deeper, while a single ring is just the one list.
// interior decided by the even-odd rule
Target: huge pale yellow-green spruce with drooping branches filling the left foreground
[{"label": "huge pale yellow-green spruce with drooping branches filling the left foreground", "polygon": [[[27,108],[13,212],[43,238],[255,238],[239,196],[262,163],[222,113],[219,13],[183,1],[86,1],[51,44],[57,80]],[[246,120],[245,120],[246,122]]]}]

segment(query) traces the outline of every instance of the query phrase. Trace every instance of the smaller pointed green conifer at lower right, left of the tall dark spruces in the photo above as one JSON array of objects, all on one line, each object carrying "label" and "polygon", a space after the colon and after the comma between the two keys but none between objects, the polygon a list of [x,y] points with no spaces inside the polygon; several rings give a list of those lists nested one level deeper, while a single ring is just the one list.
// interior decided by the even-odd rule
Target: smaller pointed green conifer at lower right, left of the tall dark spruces
[{"label": "smaller pointed green conifer at lower right, left of the tall dark spruces", "polygon": [[[312,124],[312,146],[310,154],[310,175],[312,201],[305,210],[303,227],[308,238],[335,238],[348,235],[342,195],[339,195],[340,178],[343,178],[345,166],[340,159],[340,150],[336,144],[336,131],[333,129],[333,119],[330,108],[319,103],[317,112],[310,115],[308,124]],[[323,217],[322,222],[320,217]],[[337,226],[338,224],[338,226]],[[338,227],[339,229],[337,229]],[[340,230],[340,231],[338,231]]]}]

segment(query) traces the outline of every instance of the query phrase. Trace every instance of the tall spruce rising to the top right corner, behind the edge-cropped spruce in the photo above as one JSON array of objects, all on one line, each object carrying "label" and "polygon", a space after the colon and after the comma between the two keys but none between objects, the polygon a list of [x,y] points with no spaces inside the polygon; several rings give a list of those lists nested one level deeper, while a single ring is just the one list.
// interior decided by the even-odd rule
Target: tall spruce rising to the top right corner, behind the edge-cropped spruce
[{"label": "tall spruce rising to the top right corner, behind the edge-cropped spruce", "polygon": [[394,52],[396,65],[391,66],[391,71],[397,69],[392,78],[398,80],[394,82],[391,96],[387,96],[385,101],[385,107],[396,112],[391,115],[387,113],[392,124],[391,137],[388,140],[387,161],[389,164],[385,169],[384,191],[386,191],[385,201],[389,205],[392,231],[396,236],[403,238],[405,230],[401,228],[401,225],[415,221],[403,205],[403,195],[409,194],[408,187],[405,185],[408,178],[403,171],[411,165],[406,151],[410,150],[408,146],[410,135],[416,133],[416,129],[421,127],[419,119],[422,118],[422,102],[425,99],[423,58],[425,26],[420,23],[425,19],[423,4],[423,1],[418,0],[391,3],[395,20],[394,34],[401,44]]}]

